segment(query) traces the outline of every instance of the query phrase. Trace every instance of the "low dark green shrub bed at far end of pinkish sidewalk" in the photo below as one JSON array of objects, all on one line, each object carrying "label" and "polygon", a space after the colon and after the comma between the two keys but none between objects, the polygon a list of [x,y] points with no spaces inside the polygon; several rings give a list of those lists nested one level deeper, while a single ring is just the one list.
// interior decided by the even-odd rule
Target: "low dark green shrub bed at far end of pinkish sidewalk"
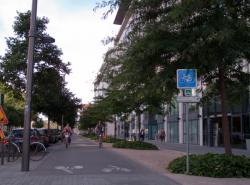
[{"label": "low dark green shrub bed at far end of pinkish sidewalk", "polygon": [[138,150],[158,150],[157,146],[151,144],[151,143],[146,143],[146,142],[141,142],[141,141],[116,141],[113,143],[114,148],[130,148],[130,149],[138,149]]}]

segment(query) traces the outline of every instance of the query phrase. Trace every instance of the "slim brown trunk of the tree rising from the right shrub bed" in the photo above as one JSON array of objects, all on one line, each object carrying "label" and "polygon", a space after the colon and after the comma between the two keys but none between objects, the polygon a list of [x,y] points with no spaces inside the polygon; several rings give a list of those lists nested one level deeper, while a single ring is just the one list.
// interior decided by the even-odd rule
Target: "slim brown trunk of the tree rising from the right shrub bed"
[{"label": "slim brown trunk of the tree rising from the right shrub bed", "polygon": [[219,68],[219,85],[220,85],[220,99],[221,99],[221,113],[222,113],[222,133],[223,143],[226,154],[232,154],[232,147],[230,143],[229,121],[227,118],[227,96],[225,86],[224,69]]}]

